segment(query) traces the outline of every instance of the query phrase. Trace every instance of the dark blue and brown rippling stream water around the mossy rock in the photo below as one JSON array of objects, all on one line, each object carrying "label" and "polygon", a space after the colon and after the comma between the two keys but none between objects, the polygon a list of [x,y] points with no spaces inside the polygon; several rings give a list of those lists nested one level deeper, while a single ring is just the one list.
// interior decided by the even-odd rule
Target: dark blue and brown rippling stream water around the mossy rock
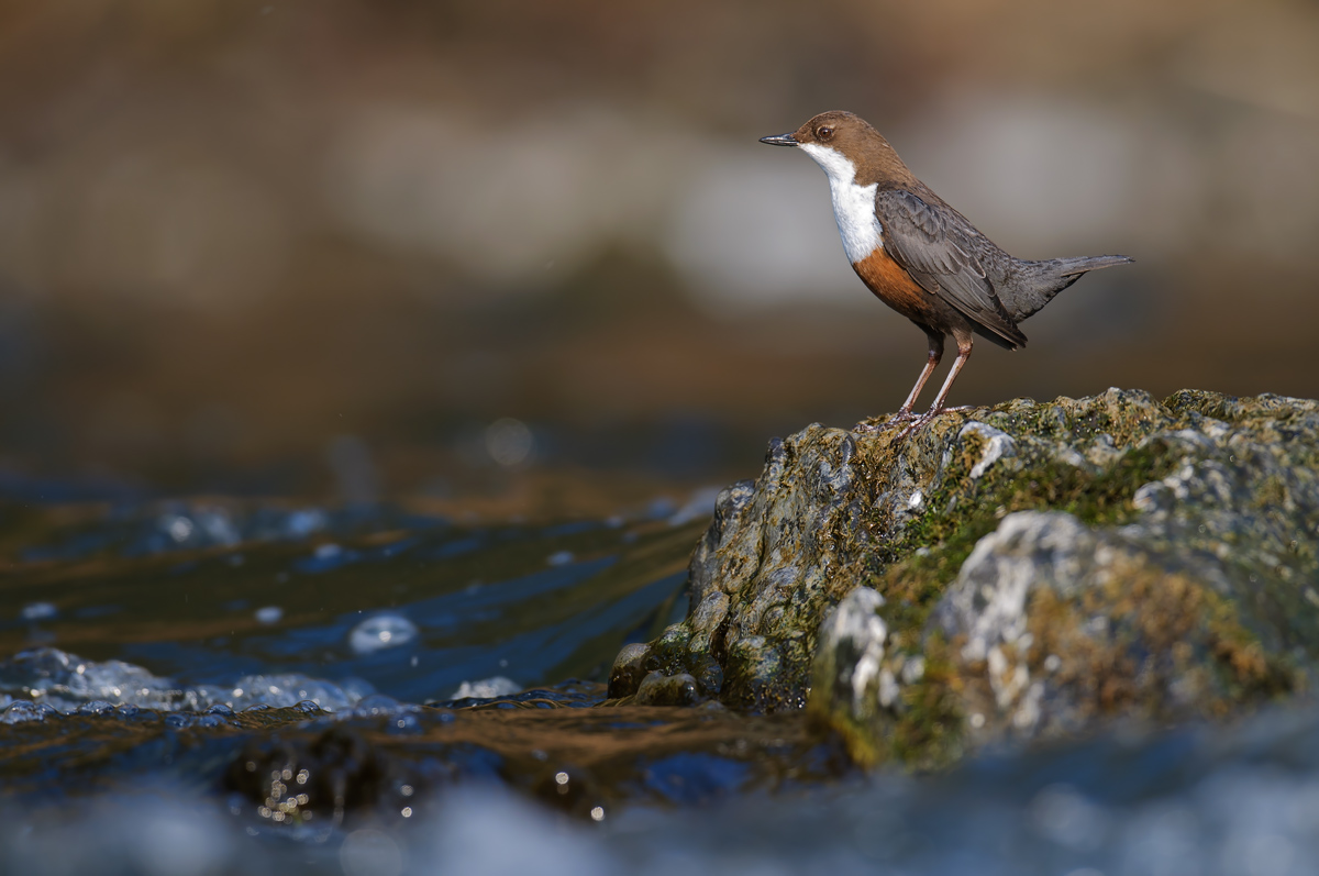
[{"label": "dark blue and brown rippling stream water around the mossy rock", "polygon": [[686,509],[3,508],[0,867],[1319,872],[1319,714],[863,776],[799,714],[617,707]]}]

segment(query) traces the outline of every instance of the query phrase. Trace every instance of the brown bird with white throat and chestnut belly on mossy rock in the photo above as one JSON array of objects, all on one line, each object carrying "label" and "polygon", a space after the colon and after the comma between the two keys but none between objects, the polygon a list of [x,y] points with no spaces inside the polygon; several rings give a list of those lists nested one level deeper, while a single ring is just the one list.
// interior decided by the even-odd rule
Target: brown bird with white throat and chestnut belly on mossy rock
[{"label": "brown bird with white throat and chestnut belly on mossy rock", "polygon": [[[828,177],[843,249],[874,296],[925,331],[930,354],[921,376],[888,422],[902,434],[946,410],[948,391],[971,358],[975,336],[1008,350],[1026,344],[1018,323],[1082,274],[1134,261],[1082,256],[1026,261],[1008,255],[915,178],[878,131],[851,112],[822,112],[789,133],[761,137],[801,149]],[[913,412],[952,335],[958,358],[934,404]],[[873,430],[865,422],[860,430]]]}]

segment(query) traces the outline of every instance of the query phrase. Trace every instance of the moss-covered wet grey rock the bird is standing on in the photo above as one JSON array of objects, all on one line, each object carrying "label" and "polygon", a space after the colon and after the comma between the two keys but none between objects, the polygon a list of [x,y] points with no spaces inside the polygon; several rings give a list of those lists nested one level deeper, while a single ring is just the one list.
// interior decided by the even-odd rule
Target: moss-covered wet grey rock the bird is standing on
[{"label": "moss-covered wet grey rock the bird is standing on", "polygon": [[1137,391],[813,425],[720,493],[691,611],[612,697],[809,707],[936,765],[1107,720],[1217,716],[1319,656],[1319,402]]}]

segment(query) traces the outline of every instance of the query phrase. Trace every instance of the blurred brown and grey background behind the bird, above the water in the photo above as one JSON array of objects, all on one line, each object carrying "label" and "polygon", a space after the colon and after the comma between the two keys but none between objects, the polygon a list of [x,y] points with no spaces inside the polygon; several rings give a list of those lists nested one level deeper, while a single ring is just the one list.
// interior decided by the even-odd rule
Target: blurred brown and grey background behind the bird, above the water
[{"label": "blurred brown and grey background behind the bird, above the water", "polygon": [[925,358],[819,169],[756,142],[834,108],[1014,255],[1137,259],[955,404],[1319,394],[1310,1],[4,0],[0,482],[752,476]]}]

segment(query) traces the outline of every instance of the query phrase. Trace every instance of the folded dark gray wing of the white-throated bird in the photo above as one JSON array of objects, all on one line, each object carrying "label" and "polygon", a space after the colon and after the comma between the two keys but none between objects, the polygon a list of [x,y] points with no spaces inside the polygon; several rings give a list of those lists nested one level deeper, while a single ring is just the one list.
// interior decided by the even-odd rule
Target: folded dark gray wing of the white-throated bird
[{"label": "folded dark gray wing of the white-throated bird", "polygon": [[901,189],[876,194],[874,215],[884,249],[922,289],[1013,346],[1026,343],[985,276],[984,237],[966,219]]}]

